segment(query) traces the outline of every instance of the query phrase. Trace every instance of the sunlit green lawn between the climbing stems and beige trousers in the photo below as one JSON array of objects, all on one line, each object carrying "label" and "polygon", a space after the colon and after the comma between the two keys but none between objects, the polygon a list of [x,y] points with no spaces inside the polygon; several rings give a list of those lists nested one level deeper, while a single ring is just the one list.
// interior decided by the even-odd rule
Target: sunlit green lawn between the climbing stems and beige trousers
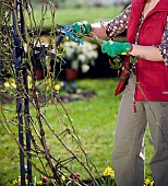
[{"label": "sunlit green lawn between the climbing stems and beige trousers", "polygon": [[[77,86],[95,91],[97,96],[72,103],[65,103],[70,117],[73,119],[73,126],[82,141],[88,156],[93,160],[100,173],[111,166],[111,152],[113,149],[113,132],[117,119],[118,108],[121,96],[113,96],[117,79],[96,79],[77,80]],[[15,109],[15,105],[4,105],[5,108]],[[57,118],[53,116],[55,106],[50,105],[45,109],[46,117],[55,128]],[[31,109],[34,115],[34,111]],[[9,117],[13,117],[10,115]],[[14,128],[14,127],[13,127]],[[47,143],[56,156],[67,156],[63,148],[59,147],[58,141],[46,129]],[[11,140],[5,129],[0,126],[0,185],[12,181],[19,176],[19,149]],[[146,177],[151,176],[148,161],[152,156],[153,147],[148,130],[146,131]],[[73,170],[80,172],[79,164],[73,165]],[[82,178],[86,175],[80,172]],[[38,174],[35,172],[35,175]]]}]

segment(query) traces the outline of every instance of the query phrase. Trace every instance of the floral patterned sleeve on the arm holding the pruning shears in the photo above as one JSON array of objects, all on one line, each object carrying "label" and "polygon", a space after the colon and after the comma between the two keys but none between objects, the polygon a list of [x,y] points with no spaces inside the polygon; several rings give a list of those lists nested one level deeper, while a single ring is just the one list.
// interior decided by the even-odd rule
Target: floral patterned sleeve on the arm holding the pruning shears
[{"label": "floral patterned sleeve on the arm holding the pruning shears", "polygon": [[111,39],[116,37],[118,34],[122,33],[128,28],[128,20],[130,16],[131,4],[127,7],[122,13],[116,16],[113,20],[109,22],[101,22],[101,25],[106,30],[106,34]]}]

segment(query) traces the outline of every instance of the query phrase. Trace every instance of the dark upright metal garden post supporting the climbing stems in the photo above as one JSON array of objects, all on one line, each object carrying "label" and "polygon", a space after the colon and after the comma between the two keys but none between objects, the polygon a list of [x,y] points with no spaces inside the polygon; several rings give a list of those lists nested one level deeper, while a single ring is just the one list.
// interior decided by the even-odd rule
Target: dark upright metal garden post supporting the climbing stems
[{"label": "dark upright metal garden post supporting the climbing stems", "polygon": [[[24,27],[24,18],[23,18],[23,5],[24,1],[16,0],[14,1],[14,9],[13,9],[13,43],[14,43],[14,48],[13,48],[13,65],[15,67],[15,74],[16,74],[16,89],[17,92],[21,91],[20,88],[20,81],[23,78],[24,85],[25,85],[25,91],[26,94],[28,94],[28,88],[27,88],[27,71],[26,71],[26,65],[23,65],[23,47],[21,47],[21,37],[19,36],[19,31],[22,34],[23,39],[25,39],[25,27]],[[17,20],[17,16],[20,16],[20,21]],[[21,25],[17,23],[20,22]],[[17,113],[17,121],[19,121],[19,140],[20,144],[22,148],[26,147],[26,153],[28,159],[31,159],[31,138],[29,138],[29,121],[28,121],[28,115],[29,115],[29,101],[28,96],[25,95],[25,97],[22,98],[22,96],[17,95],[19,97],[16,98],[16,113]],[[22,104],[22,102],[24,103]],[[24,144],[24,132],[23,132],[23,117],[21,114],[21,111],[24,109],[24,114],[26,116],[26,144]],[[24,152],[20,148],[20,172],[21,172],[21,185],[26,186],[25,183],[25,174],[28,174],[28,185],[32,184],[32,164],[29,161],[27,161],[27,164],[25,164],[25,156]]]}]

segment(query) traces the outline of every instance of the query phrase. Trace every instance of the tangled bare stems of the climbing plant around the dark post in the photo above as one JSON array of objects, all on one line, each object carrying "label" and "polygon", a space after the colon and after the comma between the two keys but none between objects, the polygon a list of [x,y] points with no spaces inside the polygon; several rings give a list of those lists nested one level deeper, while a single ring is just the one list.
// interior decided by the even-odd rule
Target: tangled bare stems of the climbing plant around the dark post
[{"label": "tangled bare stems of the climbing plant around the dark post", "polygon": [[[10,3],[11,2],[11,3]],[[23,0],[22,0],[22,4],[23,4]],[[43,175],[46,175],[47,177],[49,177],[49,178],[56,178],[57,181],[58,181],[58,183],[59,184],[61,184],[62,185],[62,181],[60,179],[60,176],[61,175],[63,175],[64,173],[63,172],[61,172],[60,170],[58,170],[57,167],[56,167],[56,165],[55,165],[55,163],[57,162],[57,164],[58,165],[60,165],[61,167],[63,167],[64,170],[67,170],[69,173],[72,173],[74,176],[75,176],[75,174],[71,171],[71,168],[69,168],[65,164],[64,164],[64,162],[62,162],[62,161],[59,161],[59,159],[57,160],[51,153],[50,153],[50,151],[49,151],[49,148],[48,148],[48,144],[47,144],[47,140],[46,140],[46,131],[45,131],[45,127],[44,127],[44,120],[45,120],[45,124],[48,124],[48,121],[45,119],[45,117],[44,117],[44,115],[41,114],[41,105],[40,105],[40,103],[39,103],[39,97],[38,97],[38,95],[37,95],[37,81],[36,81],[36,77],[35,77],[35,69],[36,69],[36,67],[35,67],[35,48],[36,48],[36,46],[39,44],[39,46],[41,46],[43,45],[43,43],[41,43],[41,40],[40,40],[40,35],[41,35],[41,30],[43,30],[43,25],[44,25],[44,22],[46,21],[46,14],[47,14],[47,11],[48,11],[48,5],[47,4],[49,4],[50,5],[50,10],[51,10],[51,19],[52,19],[52,27],[51,27],[51,32],[50,32],[50,42],[49,42],[49,46],[47,47],[47,54],[49,54],[50,55],[50,51],[52,50],[52,49],[55,49],[55,55],[56,55],[56,59],[55,59],[55,65],[56,65],[56,62],[58,62],[58,60],[57,60],[57,57],[59,56],[59,57],[61,57],[61,51],[59,50],[59,48],[57,48],[56,46],[53,46],[52,45],[52,43],[51,43],[51,40],[56,40],[56,33],[55,33],[55,14],[56,14],[56,10],[55,10],[55,7],[53,7],[53,4],[51,3],[51,2],[49,2],[48,0],[47,1],[45,1],[45,0],[43,0],[43,3],[41,3],[41,14],[43,14],[43,18],[41,18],[41,21],[40,21],[40,24],[39,24],[39,26],[38,26],[38,28],[37,28],[37,24],[36,24],[36,21],[35,21],[35,16],[34,16],[34,10],[33,10],[33,7],[32,7],[32,3],[31,3],[31,0],[27,0],[26,1],[26,7],[22,7],[22,11],[23,11],[23,19],[24,19],[24,24],[25,24],[25,35],[22,35],[21,34],[21,31],[20,31],[20,20],[19,20],[19,18],[17,18],[17,15],[16,15],[16,10],[15,10],[15,4],[16,4],[16,0],[14,0],[14,3],[13,3],[13,1],[9,1],[9,3],[10,3],[10,5],[9,5],[9,3],[7,3],[7,2],[4,2],[4,1],[2,1],[1,2],[3,5],[0,8],[0,9],[2,9],[2,8],[4,8],[4,7],[7,7],[8,5],[8,8],[9,8],[9,14],[7,15],[7,14],[4,14],[4,15],[7,15],[7,16],[9,16],[9,18],[3,18],[3,19],[5,19],[3,22],[0,22],[0,24],[3,24],[4,23],[4,25],[9,25],[9,23],[10,23],[10,20],[11,20],[11,13],[10,12],[13,12],[13,15],[14,15],[14,19],[15,19],[15,28],[16,28],[16,34],[19,35],[19,39],[20,39],[20,47],[21,48],[23,48],[23,50],[24,50],[24,63],[26,63],[26,67],[28,67],[28,69],[27,69],[27,72],[28,72],[28,74],[31,75],[31,78],[32,78],[32,95],[28,93],[27,94],[27,92],[26,92],[26,86],[25,86],[25,81],[23,81],[23,75],[22,75],[22,70],[21,70],[21,72],[20,72],[20,79],[17,79],[16,78],[16,75],[15,75],[15,69],[14,69],[14,67],[13,67],[13,63],[12,63],[12,56],[11,56],[11,53],[7,53],[5,55],[3,55],[2,54],[2,57],[4,58],[4,57],[7,57],[8,56],[8,58],[10,57],[11,58],[11,61],[10,61],[10,63],[9,63],[9,68],[7,68],[7,69],[10,69],[10,74],[11,74],[11,77],[13,77],[14,78],[14,80],[15,80],[15,84],[20,88],[20,89],[14,89],[14,91],[20,91],[20,92],[16,92],[16,93],[13,93],[12,91],[11,91],[11,93],[13,94],[13,96],[17,96],[17,98],[22,98],[22,100],[24,100],[24,98],[31,98],[31,101],[33,102],[33,106],[34,106],[34,108],[35,108],[35,112],[36,112],[36,120],[37,120],[37,124],[38,124],[38,126],[39,126],[39,128],[37,129],[37,127],[36,127],[36,125],[35,125],[35,119],[33,119],[33,117],[29,115],[29,114],[25,114],[24,113],[24,109],[25,109],[25,107],[24,107],[24,104],[22,104],[22,109],[21,109],[21,117],[23,118],[23,127],[25,127],[26,128],[26,130],[29,130],[29,132],[31,132],[31,141],[32,141],[32,144],[33,144],[33,147],[34,147],[34,149],[32,149],[31,150],[31,152],[28,152],[29,154],[35,154],[36,153],[36,156],[38,158],[38,160],[39,160],[39,162],[41,163],[41,166],[43,166],[43,168],[44,168],[44,171],[41,171],[40,168],[38,168],[37,166],[36,166],[36,164],[33,162],[33,160],[31,160],[28,156],[27,156],[27,152],[26,152],[26,150],[24,150],[24,148],[20,144],[20,142],[16,140],[16,137],[14,136],[14,131],[12,131],[12,129],[10,128],[10,125],[9,124],[14,124],[12,120],[7,120],[7,118],[5,118],[5,115],[4,115],[4,113],[3,113],[3,108],[2,108],[2,106],[0,107],[0,113],[3,115],[3,120],[1,119],[0,121],[1,123],[3,123],[3,126],[5,127],[5,129],[9,131],[9,133],[11,135],[11,137],[12,137],[12,139],[14,139],[14,141],[15,141],[15,143],[21,148],[21,150],[24,152],[24,155],[25,155],[25,158],[32,163],[32,165],[39,172],[39,173],[41,173]],[[25,4],[24,4],[25,5]],[[3,12],[4,12],[5,10],[3,10]],[[27,18],[25,16],[25,14],[26,14],[26,11],[27,11]],[[1,12],[2,14],[3,14],[3,12]],[[27,19],[29,19],[28,21],[27,21]],[[31,24],[31,26],[29,26],[29,28],[27,27],[27,24]],[[8,35],[9,36],[7,36],[5,37],[5,35],[4,35],[4,38],[3,39],[9,39],[9,43],[12,43],[13,44],[13,42],[12,42],[12,37],[11,37],[11,35],[10,35],[10,31],[9,32],[7,32],[8,33]],[[7,34],[5,33],[5,34]],[[53,38],[52,38],[53,37]],[[0,47],[2,47],[2,48],[7,48],[8,46],[3,46],[5,44],[5,42],[4,43],[1,43],[1,46]],[[11,44],[9,44],[9,48],[11,49],[11,51],[13,50],[13,48],[12,47],[14,47],[15,48],[15,46],[13,45],[11,45]],[[53,47],[53,48],[52,48]],[[8,48],[8,49],[9,49]],[[4,60],[4,65],[7,65],[5,62],[7,61],[9,61],[9,59],[5,59]],[[49,70],[50,70],[50,65],[49,65],[49,60],[50,60],[50,58],[48,57],[48,62],[47,62],[47,78],[48,79],[50,79],[50,80],[53,80],[55,78],[58,78],[58,75],[59,75],[59,73],[60,72],[58,72],[58,75],[57,77],[55,77],[55,72],[56,71],[53,71],[53,77],[50,74],[50,72],[49,72]],[[4,66],[5,67],[5,66]],[[61,67],[61,65],[60,65],[60,67]],[[56,69],[55,69],[56,70]],[[62,69],[61,69],[62,70]],[[51,81],[52,82],[52,81]],[[51,84],[52,86],[53,86],[53,83]],[[47,96],[46,96],[47,97]],[[55,100],[56,97],[53,97],[53,100]],[[56,100],[55,100],[56,101]],[[62,104],[62,102],[60,102],[61,103],[61,105],[63,106],[63,104]],[[60,104],[59,103],[59,104]],[[48,103],[46,104],[46,105],[48,105]],[[48,126],[49,128],[50,128],[50,130],[52,131],[52,133],[53,133],[53,136],[56,136],[57,138],[56,139],[59,139],[59,141],[62,143],[62,146],[64,147],[64,150],[67,151],[67,152],[69,152],[70,154],[72,154],[73,155],[73,158],[75,158],[75,160],[77,160],[77,162],[82,165],[82,167],[89,174],[89,176],[91,176],[91,178],[93,179],[93,182],[94,182],[94,184],[95,185],[97,185],[98,186],[98,183],[97,183],[97,181],[95,179],[95,177],[94,177],[94,175],[93,175],[93,173],[89,171],[91,170],[91,165],[93,166],[93,167],[95,167],[94,166],[94,164],[91,162],[91,160],[88,159],[88,155],[86,154],[86,152],[84,151],[84,149],[82,148],[82,143],[81,143],[81,141],[80,141],[80,138],[77,137],[77,133],[75,132],[75,129],[74,129],[74,126],[72,125],[72,120],[70,119],[70,116],[68,115],[68,113],[67,113],[67,109],[65,109],[65,107],[63,106],[63,108],[64,108],[64,112],[65,112],[65,115],[68,116],[68,119],[71,121],[70,124],[71,124],[71,127],[72,127],[72,130],[73,130],[73,133],[71,133],[71,137],[73,138],[73,139],[75,139],[75,142],[77,142],[77,147],[80,147],[80,149],[81,149],[81,152],[85,155],[85,159],[86,159],[86,161],[87,161],[87,166],[82,162],[82,160],[80,160],[79,158],[77,158],[77,155],[72,151],[72,150],[70,150],[70,148],[68,147],[68,144],[65,144],[65,143],[63,143],[63,139],[61,139],[60,137],[59,137],[59,135],[56,132],[56,131],[53,131],[52,130],[52,128],[50,127],[50,126]],[[57,108],[57,111],[58,111],[58,117],[59,117],[59,119],[60,119],[60,114],[59,114],[59,108]],[[29,119],[28,121],[27,121],[27,119]],[[64,121],[63,121],[63,119],[62,120],[60,120],[59,121],[60,123],[60,125],[62,125],[62,123],[64,124],[64,125],[67,125],[67,127],[69,128],[69,125],[68,124],[65,124]],[[28,126],[27,126],[28,125]],[[33,130],[31,129],[33,127]],[[26,130],[24,130],[23,132],[25,132]],[[63,132],[63,131],[62,131]],[[67,131],[65,131],[67,132]],[[34,136],[35,135],[35,136]],[[60,133],[60,136],[61,136],[61,133]],[[37,137],[37,139],[39,140],[39,144],[37,143],[37,139],[36,139],[36,137]],[[40,147],[41,146],[41,147]],[[53,176],[50,176],[49,174],[47,174],[47,170],[46,170],[46,167],[45,167],[45,163],[44,163],[44,161],[43,161],[43,159],[41,159],[41,155],[43,155],[43,158],[45,158],[46,159],[46,161],[47,161],[47,163],[48,163],[48,165],[49,165],[49,168],[50,168],[50,171],[52,172],[52,174],[53,174]],[[91,165],[89,165],[89,163],[91,163]],[[96,167],[95,167],[95,170],[96,170]],[[98,171],[97,171],[98,172]],[[100,176],[99,176],[100,177]],[[70,179],[71,181],[71,179]],[[73,182],[73,181],[72,181]],[[84,184],[81,179],[79,179],[79,182],[80,183],[75,183],[76,185],[79,184],[79,185],[86,185],[86,184]],[[101,181],[103,182],[103,181]]]}]

